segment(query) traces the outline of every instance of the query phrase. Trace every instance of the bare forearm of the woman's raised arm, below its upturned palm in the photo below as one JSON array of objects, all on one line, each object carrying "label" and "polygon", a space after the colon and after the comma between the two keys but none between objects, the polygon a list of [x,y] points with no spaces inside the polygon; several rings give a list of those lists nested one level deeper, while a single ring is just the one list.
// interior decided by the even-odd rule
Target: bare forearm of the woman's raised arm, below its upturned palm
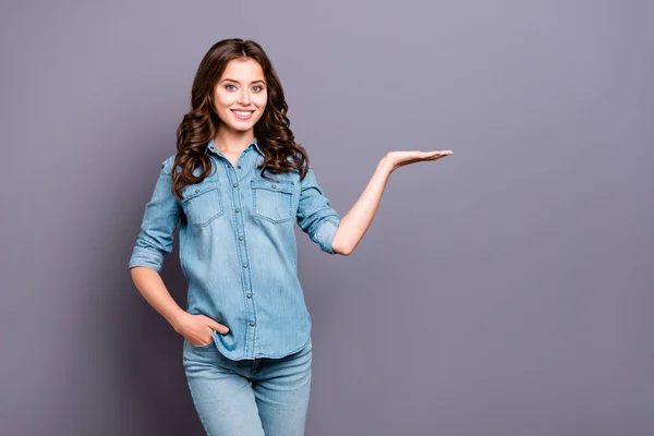
[{"label": "bare forearm of the woman's raised arm, below its upturned palm", "polygon": [[349,255],[354,251],[373,222],[391,172],[392,169],[387,165],[386,159],[382,159],[356,203],[341,218],[331,244],[335,252]]}]

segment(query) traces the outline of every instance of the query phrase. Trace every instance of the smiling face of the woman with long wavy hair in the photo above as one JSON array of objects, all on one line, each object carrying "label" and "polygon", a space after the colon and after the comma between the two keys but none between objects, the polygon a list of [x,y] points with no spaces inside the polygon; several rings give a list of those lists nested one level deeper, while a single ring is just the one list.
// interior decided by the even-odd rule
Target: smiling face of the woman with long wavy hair
[{"label": "smiling face of the woman with long wavy hair", "polygon": [[214,88],[220,129],[246,132],[262,118],[268,88],[262,65],[251,58],[232,59]]}]

